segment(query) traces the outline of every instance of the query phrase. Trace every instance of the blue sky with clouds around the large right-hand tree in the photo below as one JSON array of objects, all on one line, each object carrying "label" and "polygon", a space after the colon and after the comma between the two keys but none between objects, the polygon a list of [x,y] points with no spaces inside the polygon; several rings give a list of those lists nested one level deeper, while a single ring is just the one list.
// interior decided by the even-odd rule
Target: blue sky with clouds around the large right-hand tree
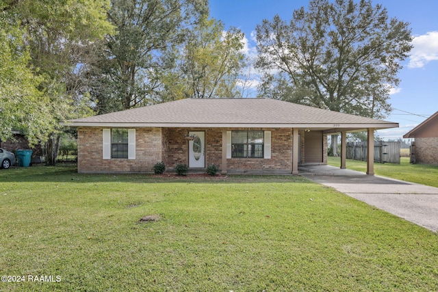
[{"label": "blue sky with clouds around the large right-hand tree", "polygon": [[[359,1],[359,0],[357,0]],[[237,27],[245,33],[246,53],[255,54],[255,27],[279,14],[285,21],[308,0],[209,0],[210,15],[222,21],[225,29]],[[410,23],[413,49],[402,62],[401,79],[391,92],[393,111],[385,120],[398,122],[398,129],[377,131],[385,140],[398,139],[438,111],[438,1],[372,0],[382,4],[389,17]]]}]

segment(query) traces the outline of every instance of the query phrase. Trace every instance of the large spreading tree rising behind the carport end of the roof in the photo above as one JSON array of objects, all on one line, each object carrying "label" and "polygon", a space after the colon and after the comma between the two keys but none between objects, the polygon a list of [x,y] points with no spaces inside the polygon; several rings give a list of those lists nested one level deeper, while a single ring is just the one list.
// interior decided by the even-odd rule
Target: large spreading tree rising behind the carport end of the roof
[{"label": "large spreading tree rising behind the carport end of the roof", "polygon": [[312,0],[289,23],[277,15],[256,31],[259,94],[372,118],[391,111],[389,90],[400,82],[412,37],[382,5]]}]

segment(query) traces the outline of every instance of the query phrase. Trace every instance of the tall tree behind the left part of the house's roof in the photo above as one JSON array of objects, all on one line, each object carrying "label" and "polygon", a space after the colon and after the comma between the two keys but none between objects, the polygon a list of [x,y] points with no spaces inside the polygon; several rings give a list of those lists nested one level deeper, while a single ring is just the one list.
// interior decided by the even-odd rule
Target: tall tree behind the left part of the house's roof
[{"label": "tall tree behind the left part of the house's roof", "polygon": [[112,0],[108,16],[117,34],[107,36],[87,73],[99,114],[155,103],[176,47],[207,13],[204,0]]}]

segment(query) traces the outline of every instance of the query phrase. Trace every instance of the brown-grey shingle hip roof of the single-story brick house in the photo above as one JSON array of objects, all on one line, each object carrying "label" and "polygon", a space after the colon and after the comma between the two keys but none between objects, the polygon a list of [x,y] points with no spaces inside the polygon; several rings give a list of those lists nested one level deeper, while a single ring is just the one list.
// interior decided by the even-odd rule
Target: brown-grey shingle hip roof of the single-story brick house
[{"label": "brown-grey shingle hip roof of the single-story brick house", "polygon": [[394,122],[318,109],[272,98],[186,98],[111,114],[68,120],[90,127],[398,127]]}]

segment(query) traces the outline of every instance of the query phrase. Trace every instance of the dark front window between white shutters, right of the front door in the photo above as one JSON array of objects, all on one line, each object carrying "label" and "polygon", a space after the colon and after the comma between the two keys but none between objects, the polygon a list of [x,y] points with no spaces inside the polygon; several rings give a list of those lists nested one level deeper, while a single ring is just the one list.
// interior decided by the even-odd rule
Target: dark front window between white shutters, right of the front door
[{"label": "dark front window between white shutters, right of the front door", "polygon": [[231,131],[231,157],[263,158],[263,131]]}]

